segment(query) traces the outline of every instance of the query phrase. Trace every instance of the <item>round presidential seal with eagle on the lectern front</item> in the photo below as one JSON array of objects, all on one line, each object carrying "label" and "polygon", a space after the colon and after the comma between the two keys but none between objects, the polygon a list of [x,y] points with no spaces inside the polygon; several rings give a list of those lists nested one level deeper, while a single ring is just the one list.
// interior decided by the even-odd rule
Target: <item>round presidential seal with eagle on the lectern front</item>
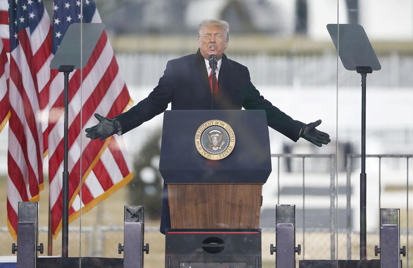
[{"label": "round presidential seal with eagle on the lectern front", "polygon": [[195,146],[198,152],[211,160],[227,157],[233,151],[234,145],[234,131],[224,121],[207,121],[195,133]]}]

